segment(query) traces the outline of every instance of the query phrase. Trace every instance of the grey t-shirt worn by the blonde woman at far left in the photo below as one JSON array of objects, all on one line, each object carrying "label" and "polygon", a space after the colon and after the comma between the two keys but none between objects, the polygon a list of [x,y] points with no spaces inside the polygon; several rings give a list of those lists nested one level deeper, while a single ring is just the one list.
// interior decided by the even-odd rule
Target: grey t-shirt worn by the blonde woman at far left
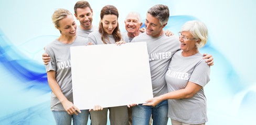
[{"label": "grey t-shirt worn by the blonde woman at far left", "polygon": [[[45,47],[45,52],[49,54],[51,60],[46,65],[46,71],[56,71],[56,81],[60,86],[61,92],[70,102],[73,102],[70,47],[87,45],[88,39],[76,36],[73,43],[63,44],[57,39]],[[51,110],[65,111],[56,95],[51,93]]]}]

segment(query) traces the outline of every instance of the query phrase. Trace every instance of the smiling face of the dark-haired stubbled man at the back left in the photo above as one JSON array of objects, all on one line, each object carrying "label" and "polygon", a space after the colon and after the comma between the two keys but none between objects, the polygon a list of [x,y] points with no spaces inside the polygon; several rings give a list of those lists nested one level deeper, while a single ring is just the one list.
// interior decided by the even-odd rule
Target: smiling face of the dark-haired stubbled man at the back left
[{"label": "smiling face of the dark-haired stubbled man at the back left", "polygon": [[83,30],[90,30],[92,28],[92,15],[93,12],[89,7],[77,8],[77,14],[74,14]]}]

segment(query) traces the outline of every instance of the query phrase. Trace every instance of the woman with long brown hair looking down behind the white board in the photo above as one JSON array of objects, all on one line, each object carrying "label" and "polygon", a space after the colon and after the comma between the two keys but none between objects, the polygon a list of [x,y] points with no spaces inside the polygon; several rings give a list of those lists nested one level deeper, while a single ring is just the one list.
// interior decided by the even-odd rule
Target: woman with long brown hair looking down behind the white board
[{"label": "woman with long brown hair looking down behind the white board", "polygon": [[[122,36],[119,30],[118,9],[112,5],[106,5],[101,9],[99,31],[94,31],[88,35],[88,40],[94,45],[97,44],[122,44]],[[128,124],[127,106],[102,108],[94,106],[90,112],[92,125],[106,124],[108,109],[110,110],[110,124]]]}]

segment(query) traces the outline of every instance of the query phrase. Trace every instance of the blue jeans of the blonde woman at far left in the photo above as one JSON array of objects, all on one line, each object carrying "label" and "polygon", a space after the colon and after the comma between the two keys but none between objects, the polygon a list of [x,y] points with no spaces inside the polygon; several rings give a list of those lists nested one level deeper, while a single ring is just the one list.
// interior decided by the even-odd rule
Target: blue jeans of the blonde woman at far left
[{"label": "blue jeans of the blonde woman at far left", "polygon": [[81,110],[82,113],[77,115],[68,115],[67,111],[52,111],[54,119],[57,125],[71,125],[71,119],[73,125],[84,124],[88,122],[89,110]]}]

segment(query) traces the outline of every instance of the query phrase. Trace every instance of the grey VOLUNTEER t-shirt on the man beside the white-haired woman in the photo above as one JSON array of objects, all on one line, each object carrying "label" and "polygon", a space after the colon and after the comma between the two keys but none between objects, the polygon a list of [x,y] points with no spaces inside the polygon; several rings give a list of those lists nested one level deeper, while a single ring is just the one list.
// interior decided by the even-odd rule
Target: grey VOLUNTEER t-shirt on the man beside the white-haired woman
[{"label": "grey VOLUNTEER t-shirt on the man beside the white-haired woman", "polygon": [[152,37],[144,32],[134,37],[132,42],[147,43],[154,97],[167,93],[165,73],[170,58],[172,58],[173,54],[180,48],[180,42],[177,37],[166,36],[165,33],[159,37]]}]

